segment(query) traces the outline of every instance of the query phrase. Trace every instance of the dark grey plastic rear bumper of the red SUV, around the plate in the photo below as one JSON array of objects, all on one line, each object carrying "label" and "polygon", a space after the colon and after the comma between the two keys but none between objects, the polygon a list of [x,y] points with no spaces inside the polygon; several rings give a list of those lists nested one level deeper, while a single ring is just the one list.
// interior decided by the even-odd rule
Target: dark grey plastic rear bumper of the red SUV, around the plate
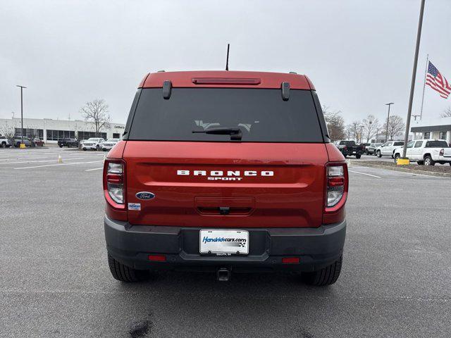
[{"label": "dark grey plastic rear bumper of the red SUV, around the plate", "polygon": [[[106,248],[117,261],[136,269],[216,270],[319,270],[336,261],[343,251],[346,220],[316,228],[249,229],[249,255],[199,254],[199,230],[193,227],[130,225],[104,219]],[[166,261],[149,261],[150,254]],[[300,263],[283,264],[283,257]]]}]

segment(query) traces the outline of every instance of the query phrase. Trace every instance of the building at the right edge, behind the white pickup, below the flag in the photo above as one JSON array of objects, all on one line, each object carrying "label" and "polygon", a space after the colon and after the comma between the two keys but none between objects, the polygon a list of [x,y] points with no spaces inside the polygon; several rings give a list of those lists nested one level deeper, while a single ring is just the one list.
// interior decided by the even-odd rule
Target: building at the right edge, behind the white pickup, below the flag
[{"label": "building at the right edge, behind the white pickup, below the flag", "polygon": [[414,139],[445,139],[451,144],[451,117],[412,120],[410,131],[414,133]]}]

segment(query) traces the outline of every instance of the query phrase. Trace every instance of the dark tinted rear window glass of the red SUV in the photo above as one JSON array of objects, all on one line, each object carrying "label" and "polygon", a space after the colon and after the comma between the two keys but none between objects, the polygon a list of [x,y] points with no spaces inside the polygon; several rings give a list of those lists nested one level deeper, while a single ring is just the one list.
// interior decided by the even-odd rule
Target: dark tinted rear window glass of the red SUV
[{"label": "dark tinted rear window glass of the red SUV", "polygon": [[[230,134],[205,134],[239,128],[241,142],[324,142],[311,92],[280,89],[142,89],[128,139],[230,142]],[[193,132],[194,131],[194,132]]]}]

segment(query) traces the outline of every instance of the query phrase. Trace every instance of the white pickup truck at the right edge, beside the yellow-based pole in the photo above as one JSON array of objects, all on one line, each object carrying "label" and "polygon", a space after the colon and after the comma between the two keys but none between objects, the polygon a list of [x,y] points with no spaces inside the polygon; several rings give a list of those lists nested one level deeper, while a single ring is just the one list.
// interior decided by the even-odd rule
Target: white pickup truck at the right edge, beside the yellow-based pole
[{"label": "white pickup truck at the right edge, beside the yellow-based pole", "polygon": [[[395,161],[402,156],[402,148],[395,149]],[[424,165],[435,163],[451,165],[451,147],[444,139],[416,139],[407,144],[409,161]]]}]

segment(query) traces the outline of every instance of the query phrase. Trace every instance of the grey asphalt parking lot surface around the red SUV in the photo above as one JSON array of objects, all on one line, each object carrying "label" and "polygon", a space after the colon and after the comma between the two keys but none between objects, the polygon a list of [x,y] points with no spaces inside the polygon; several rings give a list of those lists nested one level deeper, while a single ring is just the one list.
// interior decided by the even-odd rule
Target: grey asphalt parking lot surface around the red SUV
[{"label": "grey asphalt parking lot surface around the red SUV", "polygon": [[0,149],[0,337],[450,337],[451,179],[352,163],[330,287],[173,272],[121,284],[106,262],[103,157]]}]

